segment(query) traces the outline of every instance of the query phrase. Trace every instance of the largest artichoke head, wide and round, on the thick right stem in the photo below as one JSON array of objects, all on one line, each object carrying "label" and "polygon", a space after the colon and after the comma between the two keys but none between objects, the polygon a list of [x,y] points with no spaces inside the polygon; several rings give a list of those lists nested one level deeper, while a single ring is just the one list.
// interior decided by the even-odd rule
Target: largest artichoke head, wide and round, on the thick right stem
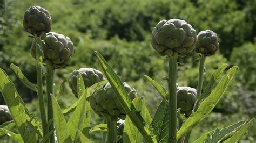
[{"label": "largest artichoke head, wide and round, on the thick right stem", "polygon": [[172,56],[174,52],[186,56],[193,51],[196,40],[196,30],[180,19],[161,20],[151,35],[151,45],[161,56]]}]

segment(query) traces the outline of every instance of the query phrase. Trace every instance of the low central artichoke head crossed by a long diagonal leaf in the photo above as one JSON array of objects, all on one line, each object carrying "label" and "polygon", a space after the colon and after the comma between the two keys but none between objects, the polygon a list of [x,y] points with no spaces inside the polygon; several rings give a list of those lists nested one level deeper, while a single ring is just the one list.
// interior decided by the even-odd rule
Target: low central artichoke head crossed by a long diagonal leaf
[{"label": "low central artichoke head crossed by a long diagonal leaf", "polygon": [[[130,99],[134,99],[137,96],[136,91],[134,91],[127,83],[124,82],[123,84]],[[107,83],[103,89],[91,96],[90,104],[92,110],[101,118],[116,116],[117,118],[124,120],[126,117],[126,112],[118,101],[116,94],[114,94],[110,83]]]}]

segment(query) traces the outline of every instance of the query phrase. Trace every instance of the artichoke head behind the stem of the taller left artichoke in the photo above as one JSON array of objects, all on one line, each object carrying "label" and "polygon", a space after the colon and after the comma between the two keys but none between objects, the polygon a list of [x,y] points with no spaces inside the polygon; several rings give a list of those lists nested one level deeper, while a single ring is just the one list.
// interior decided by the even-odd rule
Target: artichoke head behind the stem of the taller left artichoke
[{"label": "artichoke head behind the stem of the taller left artichoke", "polygon": [[[69,37],[55,32],[49,32],[43,37],[43,62],[53,69],[63,68],[74,53],[73,42]],[[30,53],[36,59],[36,41],[33,40]]]}]

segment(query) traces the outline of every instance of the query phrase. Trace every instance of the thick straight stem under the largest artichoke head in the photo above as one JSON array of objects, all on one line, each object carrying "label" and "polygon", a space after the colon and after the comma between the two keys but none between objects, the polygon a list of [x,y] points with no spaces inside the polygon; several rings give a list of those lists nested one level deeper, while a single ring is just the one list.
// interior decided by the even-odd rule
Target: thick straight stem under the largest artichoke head
[{"label": "thick straight stem under the largest artichoke head", "polygon": [[178,54],[169,56],[169,70],[168,70],[168,91],[169,91],[169,138],[168,142],[176,143],[177,134],[177,96],[176,96],[176,80],[177,80],[177,58]]}]

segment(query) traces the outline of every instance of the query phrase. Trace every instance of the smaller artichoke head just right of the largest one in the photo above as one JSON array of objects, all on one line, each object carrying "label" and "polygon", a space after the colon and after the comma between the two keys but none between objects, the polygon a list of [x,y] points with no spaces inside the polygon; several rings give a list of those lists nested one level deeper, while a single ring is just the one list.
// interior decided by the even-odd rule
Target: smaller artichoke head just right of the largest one
[{"label": "smaller artichoke head just right of the largest one", "polygon": [[219,49],[218,36],[211,30],[201,31],[197,35],[194,51],[205,56],[214,55]]}]

